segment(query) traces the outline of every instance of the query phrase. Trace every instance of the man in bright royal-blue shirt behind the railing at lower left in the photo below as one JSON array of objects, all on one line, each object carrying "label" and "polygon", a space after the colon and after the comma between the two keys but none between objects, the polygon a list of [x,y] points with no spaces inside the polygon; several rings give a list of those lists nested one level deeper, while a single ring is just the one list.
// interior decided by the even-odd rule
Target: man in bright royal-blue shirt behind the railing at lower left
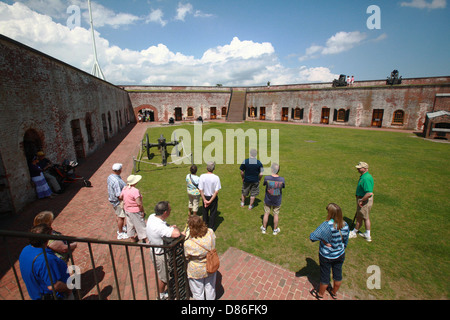
[{"label": "man in bright royal-blue shirt behind the railing at lower left", "polygon": [[[31,232],[51,235],[52,229],[46,224],[40,224],[33,227]],[[47,247],[47,242],[46,239],[31,238],[30,244],[20,254],[20,272],[28,294],[32,300],[52,300],[54,299],[52,292],[54,288],[57,299],[73,297],[72,291],[67,287],[67,279],[69,279],[67,265]]]}]

